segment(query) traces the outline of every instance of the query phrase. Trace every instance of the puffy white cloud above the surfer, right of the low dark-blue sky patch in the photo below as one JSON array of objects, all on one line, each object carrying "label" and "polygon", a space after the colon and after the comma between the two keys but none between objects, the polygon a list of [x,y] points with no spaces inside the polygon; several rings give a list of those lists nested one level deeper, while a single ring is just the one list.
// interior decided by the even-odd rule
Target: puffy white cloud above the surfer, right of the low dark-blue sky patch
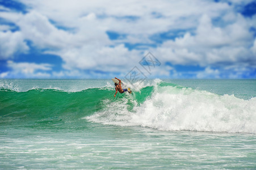
[{"label": "puffy white cloud above the surfer, right of the low dark-blue sky patch", "polygon": [[60,56],[65,61],[65,69],[91,69],[100,71],[127,71],[139,62],[139,52],[128,51],[123,44],[113,48],[109,46],[83,46],[82,48],[65,49]]}]

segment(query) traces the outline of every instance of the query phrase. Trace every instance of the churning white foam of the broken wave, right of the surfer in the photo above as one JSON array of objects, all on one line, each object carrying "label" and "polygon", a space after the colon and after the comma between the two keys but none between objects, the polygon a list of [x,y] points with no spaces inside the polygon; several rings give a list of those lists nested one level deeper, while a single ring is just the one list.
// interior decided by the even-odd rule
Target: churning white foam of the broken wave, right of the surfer
[{"label": "churning white foam of the broken wave, right of the surfer", "polygon": [[[155,86],[150,99],[128,111],[127,99],[106,101],[106,108],[87,119],[104,124],[139,125],[159,130],[256,133],[256,98],[238,99],[207,91]],[[130,101],[131,102],[131,101]]]}]

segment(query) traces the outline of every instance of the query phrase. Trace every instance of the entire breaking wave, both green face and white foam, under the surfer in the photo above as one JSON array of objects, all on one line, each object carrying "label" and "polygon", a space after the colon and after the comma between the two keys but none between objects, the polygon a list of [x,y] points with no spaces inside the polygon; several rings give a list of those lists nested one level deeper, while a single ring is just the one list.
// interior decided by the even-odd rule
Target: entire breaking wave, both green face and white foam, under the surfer
[{"label": "entire breaking wave, both green face and white foam, under the surfer", "polygon": [[114,94],[108,83],[73,92],[57,87],[15,91],[2,86],[0,125],[85,129],[91,121],[170,131],[256,133],[256,97],[244,100],[160,80],[137,86],[133,95]]}]

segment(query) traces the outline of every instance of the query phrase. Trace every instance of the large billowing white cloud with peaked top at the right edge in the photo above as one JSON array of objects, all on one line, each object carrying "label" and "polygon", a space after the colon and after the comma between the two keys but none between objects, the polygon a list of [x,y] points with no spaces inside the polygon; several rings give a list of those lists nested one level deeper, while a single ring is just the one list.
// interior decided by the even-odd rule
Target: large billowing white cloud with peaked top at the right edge
[{"label": "large billowing white cloud with peaked top at the right edge", "polygon": [[248,59],[255,61],[249,50],[253,40],[249,28],[249,22],[239,14],[234,23],[222,28],[203,15],[195,35],[187,32],[183,37],[164,42],[155,51],[164,62],[179,65],[220,66],[237,65]]}]

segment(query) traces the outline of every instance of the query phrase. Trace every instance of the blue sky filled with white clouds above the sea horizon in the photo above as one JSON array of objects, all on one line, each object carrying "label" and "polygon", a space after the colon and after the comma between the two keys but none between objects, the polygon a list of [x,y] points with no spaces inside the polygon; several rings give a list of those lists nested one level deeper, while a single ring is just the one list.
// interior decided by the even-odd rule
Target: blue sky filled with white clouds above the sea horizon
[{"label": "blue sky filled with white clouds above the sea horizon", "polygon": [[[149,52],[159,61],[150,71],[140,62]],[[256,78],[256,1],[0,0],[0,78],[124,78],[134,68]]]}]

